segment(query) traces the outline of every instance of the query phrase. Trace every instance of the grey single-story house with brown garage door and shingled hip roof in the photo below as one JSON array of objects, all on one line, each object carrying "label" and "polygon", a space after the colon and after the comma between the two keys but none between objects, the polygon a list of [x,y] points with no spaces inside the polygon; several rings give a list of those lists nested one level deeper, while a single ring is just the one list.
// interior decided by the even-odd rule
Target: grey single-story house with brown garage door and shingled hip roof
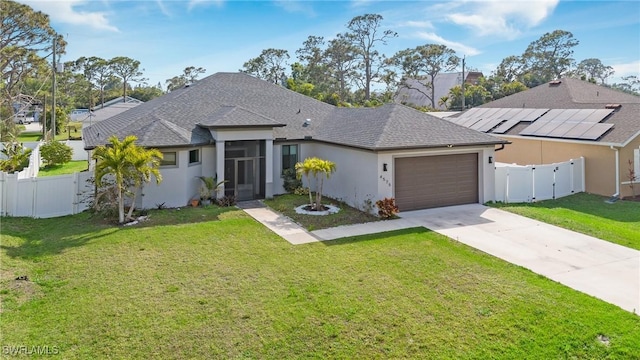
[{"label": "grey single-story house with brown garage door and shingled hip roof", "polygon": [[197,176],[225,179],[239,201],[284,193],[281,174],[307,157],[336,163],[323,192],[352,206],[394,197],[400,210],[494,199],[494,148],[505,141],[399,104],[339,108],[242,73],[217,73],[96,123],[164,155],[141,207],[184,206]]}]

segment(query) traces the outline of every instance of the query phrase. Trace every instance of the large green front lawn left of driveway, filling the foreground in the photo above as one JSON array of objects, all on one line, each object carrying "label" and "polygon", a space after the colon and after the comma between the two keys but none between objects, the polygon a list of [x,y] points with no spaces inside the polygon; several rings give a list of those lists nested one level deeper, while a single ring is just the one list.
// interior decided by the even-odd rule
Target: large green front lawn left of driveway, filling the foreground
[{"label": "large green front lawn left of driveway, filling the foreground", "polygon": [[293,246],[231,208],[98,220],[1,219],[2,345],[64,359],[638,356],[637,315],[425,229]]}]

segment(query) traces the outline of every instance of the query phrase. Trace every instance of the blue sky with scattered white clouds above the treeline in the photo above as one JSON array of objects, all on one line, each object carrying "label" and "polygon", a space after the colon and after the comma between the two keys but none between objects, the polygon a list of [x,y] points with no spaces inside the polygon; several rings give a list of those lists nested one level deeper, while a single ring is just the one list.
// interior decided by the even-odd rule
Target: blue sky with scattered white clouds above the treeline
[{"label": "blue sky with scattered white clouds above the treeline", "polygon": [[62,61],[80,56],[139,60],[148,83],[187,66],[235,72],[267,48],[295,51],[310,35],[331,39],[353,17],[380,14],[398,37],[379,51],[393,55],[444,44],[467,65],[490,74],[546,32],[570,31],[577,61],[599,58],[621,76],[640,75],[639,1],[236,1],[19,0],[48,14],[67,41]]}]

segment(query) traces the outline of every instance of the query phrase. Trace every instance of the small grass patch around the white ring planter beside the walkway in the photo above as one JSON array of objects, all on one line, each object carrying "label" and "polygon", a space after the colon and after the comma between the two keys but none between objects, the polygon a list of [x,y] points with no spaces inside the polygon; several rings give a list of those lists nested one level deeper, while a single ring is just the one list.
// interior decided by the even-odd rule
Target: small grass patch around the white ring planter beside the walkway
[{"label": "small grass patch around the white ring planter beside the walkway", "polygon": [[376,216],[363,213],[362,211],[347,206],[344,203],[338,203],[337,201],[326,197],[322,198],[322,203],[338,206],[340,208],[340,211],[338,213],[325,216],[296,213],[296,207],[309,203],[309,195],[277,195],[272,199],[264,200],[264,203],[273,210],[286,215],[287,217],[310,231],[326,229],[340,225],[362,224],[370,221],[380,220],[380,218]]}]

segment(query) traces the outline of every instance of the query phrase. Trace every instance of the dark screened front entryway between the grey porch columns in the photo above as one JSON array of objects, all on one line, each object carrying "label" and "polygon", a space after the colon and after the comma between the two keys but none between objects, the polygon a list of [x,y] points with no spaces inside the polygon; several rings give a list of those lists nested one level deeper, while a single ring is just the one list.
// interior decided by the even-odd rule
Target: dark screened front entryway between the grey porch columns
[{"label": "dark screened front entryway between the grey porch columns", "polygon": [[237,201],[265,197],[265,141],[228,141],[224,151],[225,195]]}]

